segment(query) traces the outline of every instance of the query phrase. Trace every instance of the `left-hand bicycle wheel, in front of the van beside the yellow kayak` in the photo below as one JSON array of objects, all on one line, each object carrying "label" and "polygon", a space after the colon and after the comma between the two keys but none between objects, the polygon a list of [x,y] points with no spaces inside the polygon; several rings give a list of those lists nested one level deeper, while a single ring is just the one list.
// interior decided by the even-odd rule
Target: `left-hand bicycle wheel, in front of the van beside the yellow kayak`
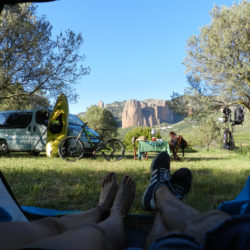
[{"label": "left-hand bicycle wheel, in front of the van beside the yellow kayak", "polygon": [[81,159],[84,155],[84,151],[82,142],[75,136],[64,138],[58,147],[59,156],[67,161]]}]

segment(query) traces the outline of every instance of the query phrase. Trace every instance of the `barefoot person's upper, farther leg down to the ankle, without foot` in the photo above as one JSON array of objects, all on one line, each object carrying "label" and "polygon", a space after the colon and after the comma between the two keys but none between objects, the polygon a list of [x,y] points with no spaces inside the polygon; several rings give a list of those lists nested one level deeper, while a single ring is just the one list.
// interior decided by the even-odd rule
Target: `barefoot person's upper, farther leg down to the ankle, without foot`
[{"label": "barefoot person's upper, farther leg down to the ankle, without foot", "polygon": [[[66,217],[68,217],[66,219]],[[93,208],[87,212],[62,218],[44,218],[31,222],[2,222],[0,225],[0,248],[20,248],[30,242],[61,234],[84,223],[95,223],[101,219],[101,212]]]}]

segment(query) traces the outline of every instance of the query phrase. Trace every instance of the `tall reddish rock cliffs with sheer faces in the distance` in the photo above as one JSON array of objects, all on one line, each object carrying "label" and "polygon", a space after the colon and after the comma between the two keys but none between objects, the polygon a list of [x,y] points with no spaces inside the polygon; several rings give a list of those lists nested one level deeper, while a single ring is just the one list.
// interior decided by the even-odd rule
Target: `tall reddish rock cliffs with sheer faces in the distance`
[{"label": "tall reddish rock cliffs with sheer faces in the distance", "polygon": [[175,123],[184,119],[170,110],[165,100],[128,100],[122,112],[122,127],[148,126],[153,127],[163,122]]}]

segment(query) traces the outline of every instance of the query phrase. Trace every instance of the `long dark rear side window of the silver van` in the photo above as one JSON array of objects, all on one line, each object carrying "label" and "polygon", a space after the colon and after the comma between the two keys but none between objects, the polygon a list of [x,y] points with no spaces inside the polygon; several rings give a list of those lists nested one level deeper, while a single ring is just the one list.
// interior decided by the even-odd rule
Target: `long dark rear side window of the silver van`
[{"label": "long dark rear side window of the silver van", "polygon": [[0,128],[26,128],[32,120],[32,112],[0,113]]}]

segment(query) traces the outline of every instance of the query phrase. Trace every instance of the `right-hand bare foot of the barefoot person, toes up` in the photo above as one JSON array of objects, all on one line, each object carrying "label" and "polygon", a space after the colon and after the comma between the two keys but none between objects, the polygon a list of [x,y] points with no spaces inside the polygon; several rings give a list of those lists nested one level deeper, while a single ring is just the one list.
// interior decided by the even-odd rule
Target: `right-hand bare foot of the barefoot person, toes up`
[{"label": "right-hand bare foot of the barefoot person, toes up", "polygon": [[123,216],[127,215],[135,198],[135,189],[136,184],[133,179],[125,175],[119,186],[111,210],[120,210]]}]

